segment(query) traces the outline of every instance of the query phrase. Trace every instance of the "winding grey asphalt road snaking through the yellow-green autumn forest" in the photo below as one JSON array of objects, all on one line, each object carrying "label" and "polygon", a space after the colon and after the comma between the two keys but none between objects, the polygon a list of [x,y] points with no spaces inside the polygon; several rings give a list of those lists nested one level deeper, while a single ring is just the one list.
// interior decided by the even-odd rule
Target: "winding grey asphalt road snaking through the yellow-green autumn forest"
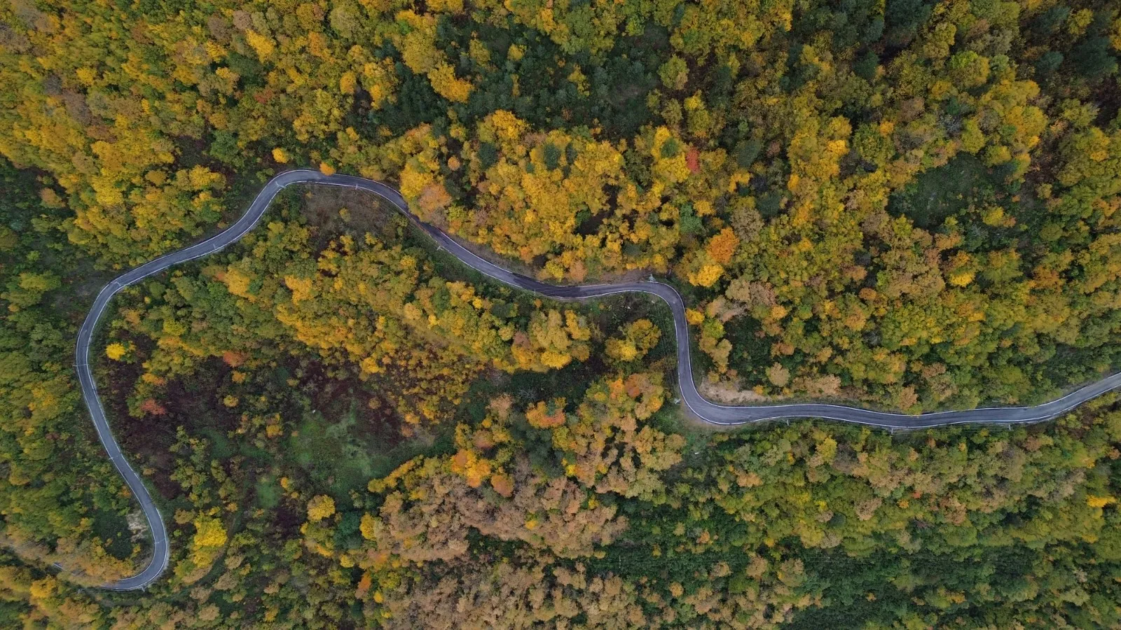
[{"label": "winding grey asphalt road snaking through the yellow-green autumn forest", "polygon": [[845,423],[883,427],[889,429],[914,429],[945,425],[956,425],[966,423],[988,423],[1000,425],[1013,425],[1021,423],[1035,423],[1054,418],[1068,411],[1083,402],[1101,396],[1106,391],[1121,387],[1121,373],[1112,374],[1092,385],[1077,389],[1062,398],[1038,405],[1035,407],[990,407],[981,409],[967,409],[958,411],[938,411],[921,415],[893,414],[889,411],[876,411],[861,409],[859,407],[847,407],[844,405],[825,405],[815,402],[791,404],[791,405],[760,405],[749,407],[730,407],[716,405],[705,400],[697,391],[693,380],[693,364],[689,358],[688,323],[685,321],[685,302],[677,289],[665,282],[656,280],[640,282],[620,282],[612,285],[583,285],[583,286],[556,286],[515,274],[503,269],[498,265],[483,260],[470,252],[458,242],[453,240],[438,228],[423,223],[411,212],[401,194],[380,182],[373,182],[352,175],[324,175],[318,170],[289,170],[281,173],[261,188],[249,210],[233,225],[214,237],[164,254],[150,262],[141,265],[131,271],[118,276],[109,282],[93,303],[77,337],[77,373],[82,383],[82,396],[85,398],[86,407],[93,417],[94,427],[98,429],[98,437],[102,446],[109,453],[109,458],[117,466],[117,471],[124,478],[124,482],[137,497],[140,508],[152,531],[154,554],[151,562],[139,574],[104,585],[105,589],[129,591],[143,589],[155,582],[167,568],[169,559],[169,548],[167,541],[167,528],[164,519],[151,499],[151,494],[145,487],[140,476],[132,470],[124,455],[121,454],[117,439],[109,428],[105,414],[98,398],[98,387],[90,370],[90,343],[93,340],[94,330],[101,321],[102,315],[109,306],[110,299],[118,291],[127,286],[135,285],[140,280],[158,274],[168,267],[202,258],[214,253],[230,243],[241,239],[253,229],[261,216],[268,210],[272,198],[285,187],[293,184],[318,184],[326,186],[340,186],[344,188],[355,188],[373,193],[391,203],[398,211],[409,219],[415,225],[424,230],[441,247],[446,249],[461,262],[471,267],[475,271],[503,282],[506,285],[537,293],[543,296],[564,299],[582,300],[605,295],[620,293],[645,293],[661,298],[669,305],[674,315],[674,334],[677,340],[677,381],[682,392],[682,400],[698,418],[714,425],[743,425],[760,420],[775,420],[782,418],[826,418]]}]

